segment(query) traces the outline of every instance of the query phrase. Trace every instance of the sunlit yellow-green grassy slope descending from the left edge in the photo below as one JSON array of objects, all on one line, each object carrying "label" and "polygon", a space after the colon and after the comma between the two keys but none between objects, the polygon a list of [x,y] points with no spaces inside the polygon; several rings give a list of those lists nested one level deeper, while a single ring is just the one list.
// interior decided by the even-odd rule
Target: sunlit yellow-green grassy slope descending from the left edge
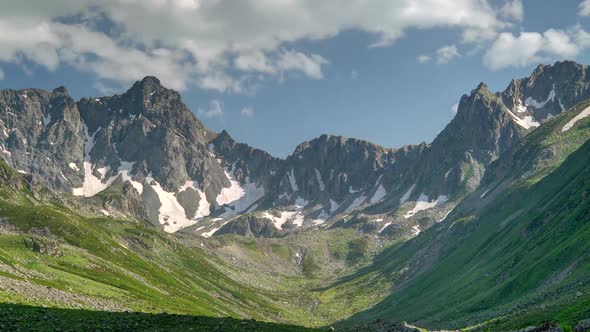
[{"label": "sunlit yellow-green grassy slope descending from the left edge", "polygon": [[[0,166],[5,180],[22,181]],[[236,281],[228,276],[235,267],[147,224],[80,216],[36,200],[25,185],[4,182],[0,302],[279,322],[306,314],[286,310],[286,292]]]}]

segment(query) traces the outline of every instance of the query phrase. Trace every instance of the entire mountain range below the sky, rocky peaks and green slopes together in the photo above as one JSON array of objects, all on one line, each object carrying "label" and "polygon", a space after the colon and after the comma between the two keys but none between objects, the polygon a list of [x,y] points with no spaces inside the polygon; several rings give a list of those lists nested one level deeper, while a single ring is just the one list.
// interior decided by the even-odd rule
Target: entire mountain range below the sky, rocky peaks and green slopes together
[{"label": "entire mountain range below the sky, rocky peaks and green slopes together", "polygon": [[[205,128],[155,77],[78,101],[0,91],[0,299],[344,329],[574,326],[590,318],[587,71],[481,83],[431,143],[325,134],[285,159]],[[31,285],[53,293],[27,300]]]}]

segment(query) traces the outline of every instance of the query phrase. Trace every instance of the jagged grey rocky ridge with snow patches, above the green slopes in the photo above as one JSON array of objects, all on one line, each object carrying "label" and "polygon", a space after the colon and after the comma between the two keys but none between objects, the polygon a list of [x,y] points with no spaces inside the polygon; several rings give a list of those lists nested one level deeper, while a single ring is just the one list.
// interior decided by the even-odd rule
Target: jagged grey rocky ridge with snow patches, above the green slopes
[{"label": "jagged grey rocky ridge with snow patches, above the green slopes", "polygon": [[[322,135],[279,159],[226,131],[207,130],[180,94],[155,77],[121,95],[78,102],[63,87],[4,90],[0,156],[31,183],[86,198],[102,193],[106,210],[147,218],[169,232],[281,208],[301,211],[304,225],[358,211],[409,219],[420,213],[416,202],[449,210],[478,187],[500,154],[587,98],[587,66],[558,62],[503,92],[480,84],[430,144],[393,149]],[[398,213],[402,208],[410,211]],[[232,229],[272,233],[259,226]]]}]

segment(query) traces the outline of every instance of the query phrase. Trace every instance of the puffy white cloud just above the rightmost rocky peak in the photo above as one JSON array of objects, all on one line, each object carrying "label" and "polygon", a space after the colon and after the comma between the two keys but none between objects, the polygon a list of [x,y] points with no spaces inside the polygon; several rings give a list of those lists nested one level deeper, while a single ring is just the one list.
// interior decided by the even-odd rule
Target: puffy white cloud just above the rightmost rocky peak
[{"label": "puffy white cloud just above the rightmost rocky peak", "polygon": [[588,47],[590,38],[579,27],[570,30],[549,29],[544,33],[510,32],[499,34],[486,51],[483,61],[491,69],[523,67],[537,62],[575,58]]}]

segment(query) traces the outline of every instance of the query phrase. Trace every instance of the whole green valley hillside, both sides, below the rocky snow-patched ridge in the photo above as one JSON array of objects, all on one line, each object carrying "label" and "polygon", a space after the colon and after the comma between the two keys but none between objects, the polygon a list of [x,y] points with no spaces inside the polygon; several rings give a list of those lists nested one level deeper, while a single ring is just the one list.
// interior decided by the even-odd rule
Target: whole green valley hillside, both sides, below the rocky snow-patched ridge
[{"label": "whole green valley hillside, both sides, below the rocky snow-patched ridge", "polygon": [[409,241],[170,235],[86,215],[0,162],[0,330],[573,326],[590,317],[590,119],[562,128],[587,106],[526,136]]}]

